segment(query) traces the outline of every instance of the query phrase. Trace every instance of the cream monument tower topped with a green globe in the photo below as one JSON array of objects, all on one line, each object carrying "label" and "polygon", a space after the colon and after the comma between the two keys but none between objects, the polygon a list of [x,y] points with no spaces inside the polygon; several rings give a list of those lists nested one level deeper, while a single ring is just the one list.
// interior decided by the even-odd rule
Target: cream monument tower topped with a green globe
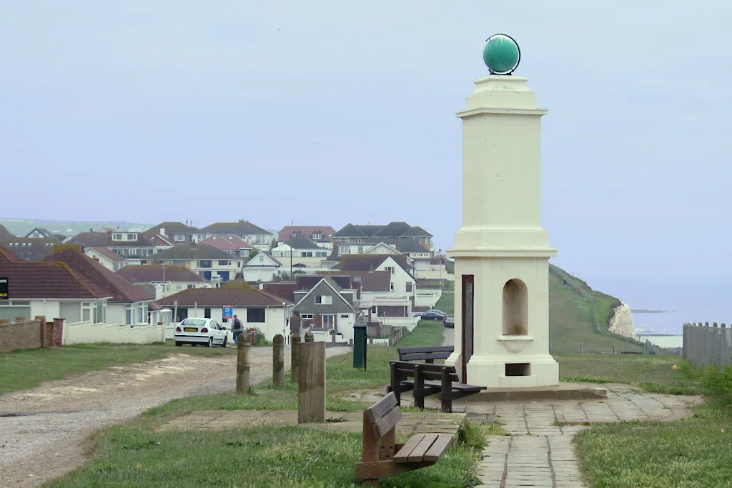
[{"label": "cream monument tower topped with a green globe", "polygon": [[488,388],[552,386],[549,247],[541,214],[541,117],[518,44],[488,38],[490,75],[475,82],[463,119],[463,227],[455,234],[455,352],[463,382]]}]

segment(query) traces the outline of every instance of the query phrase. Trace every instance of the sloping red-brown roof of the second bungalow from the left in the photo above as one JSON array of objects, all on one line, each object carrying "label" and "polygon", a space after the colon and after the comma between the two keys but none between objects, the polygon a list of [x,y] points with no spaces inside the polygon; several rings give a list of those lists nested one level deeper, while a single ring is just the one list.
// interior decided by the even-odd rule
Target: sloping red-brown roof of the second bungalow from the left
[{"label": "sloping red-brown roof of the second bungalow from the left", "polygon": [[77,274],[86,277],[94,285],[105,290],[107,296],[112,297],[111,301],[127,302],[154,299],[154,296],[150,296],[145,291],[132,285],[127,279],[106,269],[101,263],[81,254],[81,252],[67,249],[46,256],[43,260],[65,263]]}]

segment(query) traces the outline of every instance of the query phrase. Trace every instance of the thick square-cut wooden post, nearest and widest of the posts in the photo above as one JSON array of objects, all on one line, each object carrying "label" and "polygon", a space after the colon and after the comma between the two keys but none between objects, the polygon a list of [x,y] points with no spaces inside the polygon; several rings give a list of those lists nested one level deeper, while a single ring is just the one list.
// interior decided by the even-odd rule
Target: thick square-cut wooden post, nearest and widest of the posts
[{"label": "thick square-cut wooden post, nearest and widest of the posts", "polygon": [[[313,334],[310,334],[312,341]],[[299,345],[297,423],[325,423],[325,342]]]}]

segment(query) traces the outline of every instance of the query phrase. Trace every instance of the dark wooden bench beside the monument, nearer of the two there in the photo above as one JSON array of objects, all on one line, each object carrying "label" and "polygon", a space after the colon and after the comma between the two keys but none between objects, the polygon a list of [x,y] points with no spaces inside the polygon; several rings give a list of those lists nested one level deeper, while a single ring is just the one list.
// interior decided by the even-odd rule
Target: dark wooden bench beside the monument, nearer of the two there
[{"label": "dark wooden bench beside the monument, nearer of the two there", "polygon": [[485,386],[460,383],[458,372],[453,366],[408,361],[389,361],[389,366],[391,384],[387,391],[393,392],[397,402],[401,403],[401,394],[411,390],[417,408],[425,408],[425,397],[438,393],[441,410],[452,413],[452,400],[486,389]]}]

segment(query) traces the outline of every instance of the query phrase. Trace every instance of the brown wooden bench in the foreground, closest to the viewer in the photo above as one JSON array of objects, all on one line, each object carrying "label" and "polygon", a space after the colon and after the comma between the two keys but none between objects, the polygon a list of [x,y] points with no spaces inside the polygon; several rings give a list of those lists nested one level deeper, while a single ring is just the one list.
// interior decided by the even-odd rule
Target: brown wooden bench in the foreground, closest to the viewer
[{"label": "brown wooden bench in the foreground, closest to the viewer", "polygon": [[397,424],[402,419],[397,397],[386,394],[364,410],[362,462],[356,462],[356,479],[378,487],[378,478],[427,468],[442,457],[455,436],[452,434],[417,434],[406,443],[397,443]]}]

